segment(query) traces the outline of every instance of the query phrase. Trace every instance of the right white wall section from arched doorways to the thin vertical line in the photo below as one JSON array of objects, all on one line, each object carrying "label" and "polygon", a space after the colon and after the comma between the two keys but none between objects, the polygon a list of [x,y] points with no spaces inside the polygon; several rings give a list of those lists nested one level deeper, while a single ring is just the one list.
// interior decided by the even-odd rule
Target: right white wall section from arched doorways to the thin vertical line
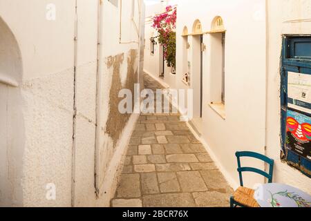
[{"label": "right white wall section from arched doorways to the thin vertical line", "polygon": [[[216,16],[223,18],[226,32],[225,46],[225,119],[220,117],[209,104],[211,97],[211,35],[203,36],[207,50],[203,52],[203,100],[202,119],[198,118],[200,68],[194,50],[196,37],[189,36],[188,61],[191,61],[191,87],[194,95],[195,124],[202,141],[209,148],[218,166],[232,186],[238,186],[236,151],[265,151],[265,1],[181,1],[178,3],[177,27],[177,81],[178,88],[188,88],[182,83],[185,65],[182,52],[185,46],[182,30],[187,26],[189,33],[194,21],[199,19],[204,32],[211,30]],[[199,53],[196,53],[199,55]],[[213,63],[214,64],[214,63]],[[246,162],[263,169],[261,162]],[[263,182],[262,177],[245,175],[245,184],[252,186]]]}]

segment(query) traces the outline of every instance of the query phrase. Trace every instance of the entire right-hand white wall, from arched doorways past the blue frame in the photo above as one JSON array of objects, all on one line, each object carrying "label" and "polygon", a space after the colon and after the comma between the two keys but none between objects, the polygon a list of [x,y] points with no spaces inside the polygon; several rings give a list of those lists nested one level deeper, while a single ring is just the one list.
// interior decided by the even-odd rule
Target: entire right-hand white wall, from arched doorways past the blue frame
[{"label": "entire right-hand white wall, from arched doorways past the blue frame", "polygon": [[[267,5],[266,5],[267,2]],[[267,8],[267,11],[266,11]],[[236,151],[256,151],[275,160],[274,182],[291,184],[311,192],[310,178],[280,160],[280,56],[282,34],[310,34],[310,1],[187,1],[178,3],[177,87],[196,88],[198,70],[191,68],[191,87],[182,84],[185,72],[185,41],[180,37],[184,26],[189,32],[200,19],[203,31],[211,29],[216,16],[223,18],[225,46],[225,119],[209,106],[211,102],[211,36],[204,35],[207,50],[203,53],[203,116],[196,119],[202,142],[232,186],[238,186]],[[288,20],[300,20],[287,22]],[[189,36],[190,47],[194,42]],[[188,60],[196,59],[188,50]],[[213,63],[214,64],[214,63]],[[187,66],[186,66],[187,67]],[[194,104],[199,103],[198,96]],[[265,150],[266,146],[266,150]],[[263,164],[249,161],[245,166]],[[245,177],[252,187],[262,178]]]}]

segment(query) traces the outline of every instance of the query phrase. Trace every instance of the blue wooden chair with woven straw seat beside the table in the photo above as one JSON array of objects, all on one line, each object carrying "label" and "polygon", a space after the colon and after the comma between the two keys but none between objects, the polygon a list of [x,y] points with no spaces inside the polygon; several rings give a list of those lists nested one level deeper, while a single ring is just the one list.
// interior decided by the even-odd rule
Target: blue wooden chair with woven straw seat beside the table
[{"label": "blue wooden chair with woven straw seat beside the table", "polygon": [[[253,172],[258,173],[260,175],[263,175],[264,177],[267,177],[267,180],[269,183],[272,183],[272,177],[273,177],[273,166],[274,166],[274,160],[270,159],[269,157],[266,157],[265,155],[261,155],[259,153],[249,152],[249,151],[243,151],[243,152],[236,152],[236,157],[238,159],[238,175],[240,176],[240,184],[241,186],[238,187],[234,195],[230,198],[230,206],[236,207],[260,207],[256,200],[254,199],[254,190],[249,189],[243,186],[243,172]],[[256,169],[253,167],[241,167],[241,157],[252,157],[256,158],[258,160],[263,160],[263,162],[266,162],[269,164],[269,173],[266,173],[265,171],[262,171],[260,169]]]}]

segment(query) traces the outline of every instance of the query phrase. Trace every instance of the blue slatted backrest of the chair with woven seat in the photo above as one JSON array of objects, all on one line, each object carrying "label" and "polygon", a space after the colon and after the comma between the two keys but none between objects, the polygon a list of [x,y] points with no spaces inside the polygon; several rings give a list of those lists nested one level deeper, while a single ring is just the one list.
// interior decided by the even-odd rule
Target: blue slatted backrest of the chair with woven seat
[{"label": "blue slatted backrest of the chair with woven seat", "polygon": [[[242,176],[243,172],[258,173],[260,175],[263,175],[264,177],[267,177],[268,182],[272,183],[274,160],[260,153],[254,153],[254,152],[249,152],[249,151],[236,152],[236,157],[238,158],[238,175],[240,176],[241,186],[243,186],[243,176]],[[241,157],[252,157],[258,160],[263,160],[263,162],[266,162],[267,164],[270,165],[269,173],[262,171],[260,169],[253,168],[253,167],[241,167]]]}]

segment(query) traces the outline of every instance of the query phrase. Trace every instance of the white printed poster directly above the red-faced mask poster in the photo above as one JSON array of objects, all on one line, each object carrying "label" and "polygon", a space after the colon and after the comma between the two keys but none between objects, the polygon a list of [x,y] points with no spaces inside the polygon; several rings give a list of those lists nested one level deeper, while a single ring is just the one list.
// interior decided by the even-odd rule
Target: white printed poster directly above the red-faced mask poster
[{"label": "white printed poster directly above the red-faced mask poster", "polygon": [[288,72],[288,107],[311,114],[311,75]]}]

